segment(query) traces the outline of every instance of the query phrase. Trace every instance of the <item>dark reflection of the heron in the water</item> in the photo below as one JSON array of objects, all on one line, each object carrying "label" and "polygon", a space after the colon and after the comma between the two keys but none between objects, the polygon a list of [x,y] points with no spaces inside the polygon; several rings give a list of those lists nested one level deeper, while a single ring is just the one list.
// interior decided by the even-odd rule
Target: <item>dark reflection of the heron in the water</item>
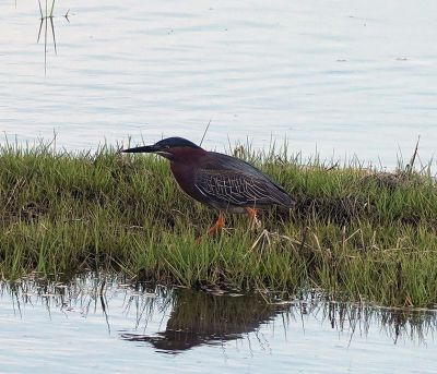
[{"label": "dark reflection of the heron in the water", "polygon": [[290,305],[268,304],[259,295],[217,297],[189,290],[175,291],[172,306],[165,331],[154,336],[122,334],[121,338],[147,341],[158,350],[178,352],[240,339],[290,309]]}]

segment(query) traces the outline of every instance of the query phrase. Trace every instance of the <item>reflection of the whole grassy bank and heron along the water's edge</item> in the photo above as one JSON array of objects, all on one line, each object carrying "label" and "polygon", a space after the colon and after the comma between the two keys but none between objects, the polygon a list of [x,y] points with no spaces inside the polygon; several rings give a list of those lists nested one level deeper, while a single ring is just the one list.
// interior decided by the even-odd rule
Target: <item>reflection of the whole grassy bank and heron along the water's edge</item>
[{"label": "reflection of the whole grassy bank and heron along the water's edge", "polygon": [[[260,327],[281,318],[284,334],[290,325],[316,319],[330,325],[333,331],[367,336],[370,329],[389,336],[393,343],[400,339],[424,343],[437,331],[435,310],[394,310],[368,304],[328,302],[319,293],[308,293],[293,302],[267,302],[260,295],[214,295],[180,288],[165,288],[144,283],[123,283],[119,277],[88,275],[69,283],[33,277],[19,282],[0,282],[0,298],[11,297],[15,314],[21,316],[26,305],[44,304],[50,315],[54,310],[69,313],[80,311],[83,317],[103,315],[107,325],[122,340],[152,346],[166,353],[179,353],[198,346],[220,345],[237,340]],[[104,286],[104,287],[103,287]],[[110,313],[121,303],[119,314],[131,321],[127,328],[111,328]],[[111,307],[113,305],[113,307]],[[133,314],[133,318],[132,318]],[[151,322],[160,321],[152,329]]]}]

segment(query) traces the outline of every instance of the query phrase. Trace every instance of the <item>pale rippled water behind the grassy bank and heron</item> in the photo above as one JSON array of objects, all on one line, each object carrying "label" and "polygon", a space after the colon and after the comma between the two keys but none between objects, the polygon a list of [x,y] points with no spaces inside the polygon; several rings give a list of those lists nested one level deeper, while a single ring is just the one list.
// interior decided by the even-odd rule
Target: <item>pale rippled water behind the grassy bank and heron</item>
[{"label": "pale rippled water behind the grassy bank and heron", "polygon": [[[68,22],[63,15],[69,12]],[[437,137],[436,1],[0,3],[0,130],[69,149],[181,135],[393,168]]]}]

